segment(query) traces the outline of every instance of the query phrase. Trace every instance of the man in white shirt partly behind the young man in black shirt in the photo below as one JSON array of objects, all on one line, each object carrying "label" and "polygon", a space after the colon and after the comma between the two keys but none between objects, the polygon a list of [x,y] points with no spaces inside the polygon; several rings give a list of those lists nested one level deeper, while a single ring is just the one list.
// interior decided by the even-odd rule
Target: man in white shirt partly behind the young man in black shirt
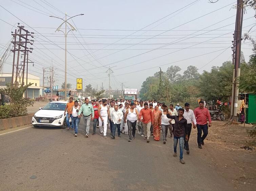
[{"label": "man in white shirt partly behind the young man in black shirt", "polygon": [[193,128],[196,128],[196,117],[194,114],[194,111],[192,109],[189,109],[190,105],[189,103],[185,103],[185,111],[183,114],[183,117],[187,120],[187,124],[188,124],[188,140],[186,141],[184,139],[184,148],[187,150],[186,153],[189,154],[189,137],[190,137],[190,133],[191,133],[191,129],[192,129],[192,123],[193,123]]}]

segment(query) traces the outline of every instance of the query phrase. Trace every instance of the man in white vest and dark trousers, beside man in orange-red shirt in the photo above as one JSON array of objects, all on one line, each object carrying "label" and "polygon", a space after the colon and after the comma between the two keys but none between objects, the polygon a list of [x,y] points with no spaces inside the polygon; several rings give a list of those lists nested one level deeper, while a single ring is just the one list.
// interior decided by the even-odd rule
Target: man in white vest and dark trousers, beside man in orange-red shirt
[{"label": "man in white vest and dark trousers, beside man in orange-red shirt", "polygon": [[[135,109],[135,104],[131,103],[131,108],[128,108],[124,114],[124,122],[126,123],[127,119],[127,126],[128,126],[128,135],[129,135],[129,142],[132,141],[132,135],[133,139],[135,139],[135,132],[136,132],[136,122],[139,118],[139,113]],[[133,133],[132,133],[133,131]]]}]

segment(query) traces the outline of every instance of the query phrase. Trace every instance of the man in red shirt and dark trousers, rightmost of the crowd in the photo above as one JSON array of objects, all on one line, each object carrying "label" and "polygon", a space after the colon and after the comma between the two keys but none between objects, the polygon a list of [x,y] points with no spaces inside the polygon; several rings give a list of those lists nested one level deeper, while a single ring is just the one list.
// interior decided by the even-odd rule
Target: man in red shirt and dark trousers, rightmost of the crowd
[{"label": "man in red shirt and dark trousers, rightmost of the crowd", "polygon": [[[199,102],[199,107],[194,110],[195,117],[196,117],[196,127],[197,127],[197,143],[198,148],[202,149],[201,145],[204,145],[204,139],[208,135],[208,122],[209,120],[209,127],[212,126],[212,119],[210,112],[207,108],[203,107],[204,102]],[[203,136],[202,136],[202,130],[203,130]]]}]

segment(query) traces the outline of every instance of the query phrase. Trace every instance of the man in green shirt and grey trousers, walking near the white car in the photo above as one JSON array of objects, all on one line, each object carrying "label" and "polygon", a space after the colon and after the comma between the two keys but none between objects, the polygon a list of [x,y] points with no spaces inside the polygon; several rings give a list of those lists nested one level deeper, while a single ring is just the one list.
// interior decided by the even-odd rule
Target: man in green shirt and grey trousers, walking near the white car
[{"label": "man in green shirt and grey trousers, walking near the white car", "polygon": [[[81,114],[83,112],[83,114]],[[84,126],[85,126],[85,133],[84,136],[86,138],[89,137],[90,131],[90,122],[94,118],[94,109],[93,105],[90,103],[88,98],[85,98],[85,104],[83,104],[78,112],[78,115],[83,116]]]}]

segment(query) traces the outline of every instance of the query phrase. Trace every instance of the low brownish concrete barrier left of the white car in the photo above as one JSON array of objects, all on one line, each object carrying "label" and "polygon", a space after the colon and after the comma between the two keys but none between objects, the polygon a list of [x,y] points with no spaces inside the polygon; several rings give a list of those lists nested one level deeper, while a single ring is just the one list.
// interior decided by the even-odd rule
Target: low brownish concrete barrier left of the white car
[{"label": "low brownish concrete barrier left of the white car", "polygon": [[34,114],[31,113],[31,114],[28,114],[26,116],[21,116],[21,117],[0,119],[0,131],[32,124],[31,120],[32,120],[33,115]]}]

